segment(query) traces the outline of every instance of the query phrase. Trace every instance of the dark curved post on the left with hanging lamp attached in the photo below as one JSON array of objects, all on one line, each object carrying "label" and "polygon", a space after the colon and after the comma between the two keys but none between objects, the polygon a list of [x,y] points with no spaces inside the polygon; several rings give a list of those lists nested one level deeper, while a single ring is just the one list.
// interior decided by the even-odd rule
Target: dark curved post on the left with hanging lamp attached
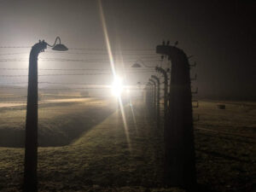
[{"label": "dark curved post on the left with hanging lamp attached", "polygon": [[[59,40],[59,44],[56,44]],[[61,44],[61,38],[55,39],[55,44],[49,45],[39,41],[32,46],[29,56],[27,104],[26,104],[26,141],[25,141],[25,169],[24,191],[38,190],[38,55],[47,49],[47,45],[54,50],[65,51],[67,47]]]}]

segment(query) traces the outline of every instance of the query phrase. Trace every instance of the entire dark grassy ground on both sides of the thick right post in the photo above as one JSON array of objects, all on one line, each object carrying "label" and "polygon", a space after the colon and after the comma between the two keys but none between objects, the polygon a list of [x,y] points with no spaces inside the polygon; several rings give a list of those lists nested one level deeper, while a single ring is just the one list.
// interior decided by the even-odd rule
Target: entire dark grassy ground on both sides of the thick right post
[{"label": "entire dark grassy ground on both sides of the thick right post", "polygon": [[[256,103],[224,103],[224,110],[212,101],[195,108],[195,116],[200,114],[195,122],[198,183],[204,191],[255,191]],[[114,100],[93,98],[40,106],[41,146],[52,147],[38,149],[39,191],[184,191],[163,187],[162,133],[155,129],[154,114],[136,101],[135,123],[130,106],[125,106],[128,143],[115,108]],[[5,117],[1,136],[24,129],[24,106],[1,108],[0,113]],[[7,137],[15,136],[1,139]],[[23,148],[0,148],[1,191],[20,191],[23,160]]]}]

